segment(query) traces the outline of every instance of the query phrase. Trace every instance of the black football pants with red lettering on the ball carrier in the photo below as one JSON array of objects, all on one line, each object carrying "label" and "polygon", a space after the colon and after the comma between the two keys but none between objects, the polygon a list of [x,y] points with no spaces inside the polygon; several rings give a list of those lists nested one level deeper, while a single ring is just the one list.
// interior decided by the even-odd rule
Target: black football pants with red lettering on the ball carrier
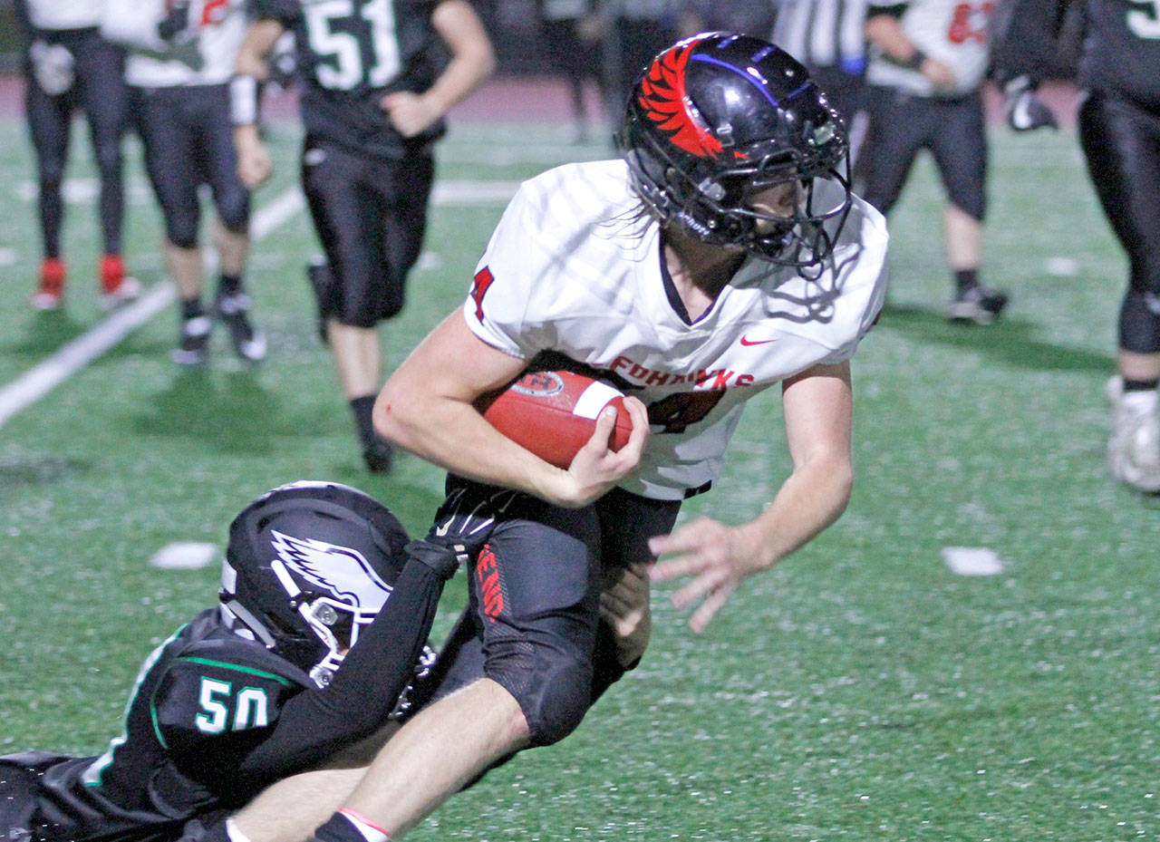
[{"label": "black football pants with red lettering on the ball carrier", "polygon": [[[599,641],[611,644],[600,634],[602,574],[652,561],[648,538],[670,532],[680,507],[619,489],[582,509],[520,498],[469,571],[470,602],[440,654],[435,695],[486,675],[520,702],[532,734],[552,731],[539,721],[558,716],[551,704],[573,709],[579,721],[594,688],[610,683],[599,674],[612,660],[597,651]],[[561,663],[583,665],[587,677]],[[561,675],[575,678],[566,694],[553,684]]]}]

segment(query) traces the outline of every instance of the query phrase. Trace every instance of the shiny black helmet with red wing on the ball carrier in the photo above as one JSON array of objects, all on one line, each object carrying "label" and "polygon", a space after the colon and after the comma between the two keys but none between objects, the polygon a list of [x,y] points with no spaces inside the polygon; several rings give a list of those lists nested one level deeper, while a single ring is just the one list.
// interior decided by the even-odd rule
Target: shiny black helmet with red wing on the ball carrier
[{"label": "shiny black helmet with red wing on the ball carrier", "polygon": [[[849,212],[841,117],[805,67],[760,38],[704,32],[661,52],[637,79],[617,141],[662,222],[774,263],[820,266]],[[791,213],[753,208],[785,183]]]}]

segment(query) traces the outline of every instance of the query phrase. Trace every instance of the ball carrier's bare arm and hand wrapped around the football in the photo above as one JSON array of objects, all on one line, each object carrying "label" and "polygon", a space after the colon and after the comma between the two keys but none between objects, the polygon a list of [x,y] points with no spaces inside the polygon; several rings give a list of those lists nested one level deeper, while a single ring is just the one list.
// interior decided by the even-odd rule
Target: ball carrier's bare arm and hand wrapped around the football
[{"label": "ball carrier's bare arm and hand wrapped around the football", "polygon": [[561,471],[496,433],[472,406],[476,398],[506,385],[525,365],[476,336],[456,311],[387,380],[375,404],[375,428],[462,477],[519,488],[558,506],[585,506],[640,460],[648,433],[644,404],[625,400],[632,435],[619,451],[608,448],[614,411],[601,415],[592,440]]}]

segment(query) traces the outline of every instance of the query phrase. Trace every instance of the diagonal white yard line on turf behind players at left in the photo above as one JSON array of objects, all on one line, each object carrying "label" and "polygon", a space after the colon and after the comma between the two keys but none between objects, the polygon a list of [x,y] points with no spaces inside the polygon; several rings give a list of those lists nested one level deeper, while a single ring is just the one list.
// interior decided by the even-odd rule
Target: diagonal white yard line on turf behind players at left
[{"label": "diagonal white yard line on turf behind players at left", "polygon": [[[259,209],[249,227],[254,241],[267,237],[302,208],[302,193],[293,189]],[[171,281],[154,284],[136,302],[115,310],[90,331],[61,346],[51,357],[0,389],[0,427],[116,347],[125,336],[173,304],[174,298]]]}]

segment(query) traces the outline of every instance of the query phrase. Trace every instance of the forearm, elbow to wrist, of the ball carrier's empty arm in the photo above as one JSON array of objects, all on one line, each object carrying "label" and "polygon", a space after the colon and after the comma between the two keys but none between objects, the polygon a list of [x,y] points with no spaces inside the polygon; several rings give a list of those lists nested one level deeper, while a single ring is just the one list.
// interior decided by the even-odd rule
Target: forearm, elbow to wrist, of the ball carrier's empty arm
[{"label": "forearm, elbow to wrist, of the ball carrier's empty arm", "polygon": [[819,453],[799,465],[759,517],[740,527],[771,567],[807,544],[846,510],[854,467],[843,453]]}]

